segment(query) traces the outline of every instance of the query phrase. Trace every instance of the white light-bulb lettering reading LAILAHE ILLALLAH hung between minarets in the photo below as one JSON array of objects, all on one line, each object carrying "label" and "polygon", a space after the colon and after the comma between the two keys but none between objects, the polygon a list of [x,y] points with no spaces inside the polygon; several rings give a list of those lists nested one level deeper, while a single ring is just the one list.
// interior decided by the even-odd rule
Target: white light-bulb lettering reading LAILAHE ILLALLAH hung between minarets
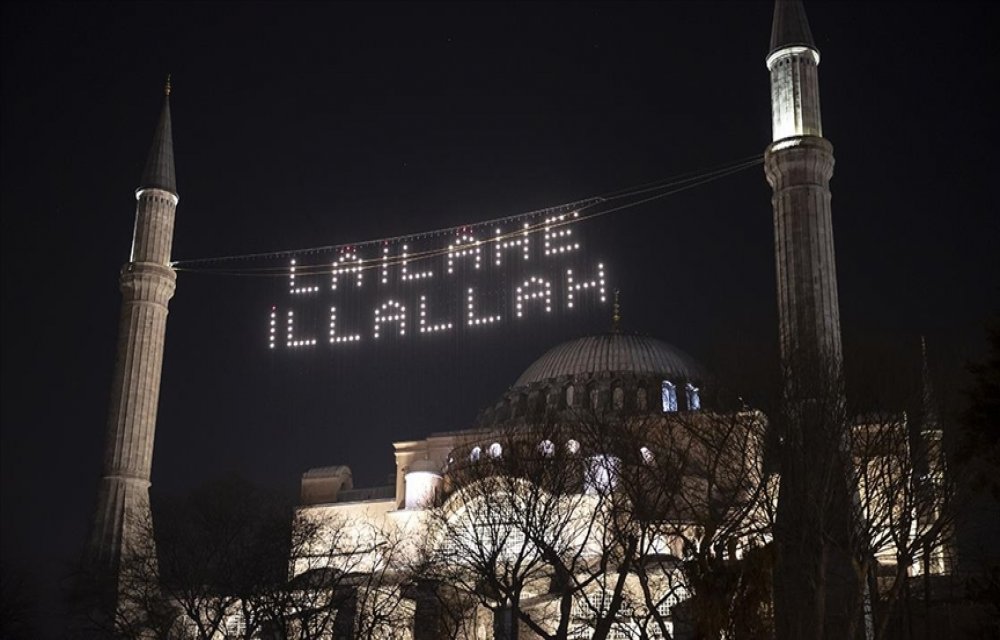
[{"label": "white light-bulb lettering reading LAILAHE ILLALLAH hung between minarets", "polygon": [[[369,337],[379,339],[386,337],[385,330],[387,323],[396,325],[398,331],[395,335],[406,335],[407,320],[413,320],[411,328],[416,325],[420,335],[431,333],[452,332],[459,330],[462,326],[462,318],[466,322],[464,326],[478,327],[482,325],[497,325],[503,321],[504,316],[510,313],[517,319],[523,319],[531,315],[530,306],[535,304],[538,309],[537,315],[551,314],[553,311],[552,301],[555,298],[558,306],[564,311],[572,311],[580,306],[581,296],[592,295],[592,299],[600,303],[607,302],[607,273],[603,263],[590,263],[584,261],[581,267],[583,256],[564,256],[567,252],[578,251],[581,248],[579,238],[575,237],[575,223],[578,222],[577,214],[568,212],[555,217],[535,218],[533,222],[524,222],[524,219],[511,223],[506,220],[500,226],[491,226],[493,234],[489,231],[475,228],[463,228],[460,234],[451,238],[452,244],[435,244],[430,241],[421,244],[417,238],[407,238],[406,240],[384,240],[378,245],[381,246],[381,256],[363,260],[359,255],[359,246],[345,246],[339,249],[337,257],[332,263],[330,271],[319,264],[308,265],[298,264],[296,260],[291,260],[288,272],[289,295],[302,300],[305,294],[314,296],[312,300],[321,302],[320,297],[324,296],[322,291],[326,291],[325,296],[332,296],[333,300],[326,302],[326,310],[329,311],[329,343],[331,345],[359,342],[365,331],[356,331],[357,327],[349,329],[343,326],[344,302],[340,301],[345,295],[354,297],[362,305],[362,308],[371,310],[374,314],[373,331]],[[507,228],[507,225],[511,225]],[[487,239],[477,239],[477,235],[486,233]],[[544,240],[532,241],[531,235],[540,233]],[[489,236],[493,237],[490,238]],[[430,236],[427,236],[430,237]],[[410,244],[403,244],[409,241]],[[446,241],[447,242],[447,241]],[[492,244],[492,246],[491,246]],[[369,244],[363,247],[369,247]],[[362,249],[363,249],[362,247]],[[447,249],[445,248],[447,247]],[[532,254],[534,251],[534,255]],[[375,250],[376,255],[377,249]],[[486,256],[492,258],[496,268],[481,269],[482,258]],[[541,257],[545,260],[540,260]],[[548,257],[554,258],[549,260]],[[433,265],[424,265],[423,261],[429,258],[436,258],[438,262]],[[301,256],[299,256],[301,258]],[[456,261],[462,258],[469,258],[469,262],[474,269],[456,270]],[[525,273],[528,264],[525,261],[532,261],[533,265],[529,273]],[[300,259],[299,263],[302,262]],[[567,264],[571,262],[571,264]],[[467,263],[468,264],[468,263]],[[509,265],[509,270],[508,270]],[[523,265],[523,266],[522,266]],[[398,273],[390,273],[394,266],[399,267]],[[573,268],[567,268],[572,266]],[[370,292],[376,294],[378,290],[379,300],[372,304],[369,293],[362,287],[364,271],[367,269],[378,270],[376,276],[381,282],[381,286],[375,287]],[[448,294],[441,291],[445,282],[423,282],[424,280],[438,275],[440,270],[447,268],[449,277],[446,281],[448,286],[454,286],[453,293]],[[322,272],[320,270],[323,270]],[[560,273],[561,272],[561,273]],[[330,274],[331,286],[325,289],[321,282],[317,280],[327,277]],[[453,280],[454,278],[454,280]],[[500,280],[496,280],[500,278]],[[493,280],[488,282],[488,280]],[[413,287],[407,283],[413,283]],[[309,286],[304,286],[309,283]],[[313,284],[320,286],[312,286]],[[354,286],[352,286],[352,284]],[[472,286],[470,286],[472,285]],[[520,285],[520,286],[518,286]],[[563,297],[562,288],[565,288]],[[356,291],[357,294],[351,294]],[[483,301],[481,294],[491,292],[489,299]],[[452,300],[450,296],[464,296],[465,300]],[[387,298],[389,298],[387,300]],[[565,306],[558,303],[558,300],[565,300]],[[432,302],[433,301],[433,302]],[[503,302],[501,302],[503,301]],[[509,302],[508,302],[509,301]],[[465,303],[466,313],[454,311],[455,303]],[[335,304],[336,306],[330,306]],[[353,304],[353,303],[346,303]],[[404,306],[405,305],[405,306]],[[502,308],[501,308],[502,305]],[[508,306],[509,305],[509,306]],[[407,306],[417,309],[419,315],[414,318],[407,318]],[[437,315],[432,312],[431,307],[437,310]],[[460,307],[461,308],[461,307]],[[340,325],[338,322],[338,309],[341,310]],[[444,309],[445,311],[442,311]],[[285,313],[287,311],[287,317]],[[312,331],[313,327],[308,322],[314,318],[310,310],[303,317],[296,318],[301,309],[288,311],[280,309],[280,306],[271,307],[269,317],[268,347],[276,349],[280,346],[308,347],[317,344],[313,337],[303,338],[296,336],[296,331],[303,332],[302,322],[305,319],[305,333],[311,335],[322,334],[318,327]],[[319,314],[320,316],[323,313]],[[280,340],[282,329],[278,327],[278,318],[285,318],[283,323],[287,324],[287,335],[285,340]],[[369,316],[371,317],[371,316]],[[353,323],[350,323],[353,324]],[[392,329],[390,329],[392,331]],[[324,342],[327,342],[324,340]]]}]

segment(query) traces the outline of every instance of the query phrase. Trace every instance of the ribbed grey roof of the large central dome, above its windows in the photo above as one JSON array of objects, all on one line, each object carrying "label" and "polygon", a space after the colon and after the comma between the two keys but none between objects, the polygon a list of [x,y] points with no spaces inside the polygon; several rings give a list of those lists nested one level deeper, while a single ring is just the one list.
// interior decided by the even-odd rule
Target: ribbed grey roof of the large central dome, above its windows
[{"label": "ribbed grey roof of the large central dome, above its windows", "polygon": [[695,360],[666,342],[624,333],[606,333],[564,342],[535,360],[515,387],[561,376],[597,373],[656,375],[673,380],[703,380]]}]

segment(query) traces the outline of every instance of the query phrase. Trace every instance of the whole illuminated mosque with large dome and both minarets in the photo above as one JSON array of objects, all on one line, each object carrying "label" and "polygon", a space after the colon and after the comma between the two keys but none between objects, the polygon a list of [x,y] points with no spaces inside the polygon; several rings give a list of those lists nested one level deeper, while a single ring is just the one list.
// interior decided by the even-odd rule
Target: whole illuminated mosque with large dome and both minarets
[{"label": "whole illuminated mosque with large dome and both minarets", "polygon": [[[829,190],[834,160],[822,137],[819,59],[801,3],[778,0],[766,60],[773,140],[765,171],[774,189],[785,404],[795,409],[782,434],[811,447],[813,458],[802,459],[817,466],[803,463],[779,477],[766,454],[768,416],[712,406],[711,377],[697,362],[665,342],[622,331],[616,318],[610,332],[542,355],[470,429],[394,443],[392,484],[356,488],[346,466],[303,475],[296,522],[321,535],[296,549],[290,575],[302,591],[323,576],[340,577],[330,601],[333,637],[693,637],[736,615],[720,613],[720,603],[704,596],[718,580],[735,580],[715,592],[737,594],[747,624],[767,624],[771,586],[749,579],[750,569],[765,566],[774,545],[781,557],[804,562],[827,551],[796,547],[787,532],[798,527],[791,530],[830,538],[827,524],[801,514],[813,511],[808,501],[817,494],[810,491],[831,471],[824,465],[834,453],[847,454],[849,468],[833,471],[857,480],[864,505],[845,529],[867,527],[868,538],[881,541],[872,575],[898,563],[899,539],[884,532],[909,507],[889,492],[912,475],[914,455],[908,437],[889,436],[908,433],[906,418],[837,416],[843,402]],[[136,198],[91,544],[95,564],[111,573],[151,544],[129,523],[148,519],[175,281],[169,103]],[[821,395],[831,399],[823,406],[833,422],[850,423],[858,434],[852,443],[874,442],[877,452],[836,449],[841,445],[830,445],[828,434],[810,428]],[[943,473],[940,431],[925,427],[917,448],[925,458],[922,477],[933,485]],[[880,475],[871,473],[876,469]],[[780,504],[791,511],[782,515]],[[933,509],[903,515],[914,531],[935,517]],[[907,575],[949,570],[940,545],[919,559],[903,557]],[[774,597],[801,586],[776,582]],[[239,627],[239,615],[231,617]],[[826,624],[849,622],[832,615]]]}]

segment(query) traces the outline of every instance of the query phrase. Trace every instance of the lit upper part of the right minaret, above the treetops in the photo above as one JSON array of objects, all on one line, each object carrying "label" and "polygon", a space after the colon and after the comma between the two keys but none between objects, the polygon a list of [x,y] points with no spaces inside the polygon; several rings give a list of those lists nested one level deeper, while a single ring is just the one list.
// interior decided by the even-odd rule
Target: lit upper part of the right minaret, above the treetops
[{"label": "lit upper part of the right minaret, above the treetops", "polygon": [[[778,313],[785,389],[802,399],[840,378],[840,309],[830,215],[833,146],[823,138],[819,50],[797,0],[778,0],[767,68]],[[813,386],[818,384],[818,387]],[[807,386],[813,386],[806,390]]]}]

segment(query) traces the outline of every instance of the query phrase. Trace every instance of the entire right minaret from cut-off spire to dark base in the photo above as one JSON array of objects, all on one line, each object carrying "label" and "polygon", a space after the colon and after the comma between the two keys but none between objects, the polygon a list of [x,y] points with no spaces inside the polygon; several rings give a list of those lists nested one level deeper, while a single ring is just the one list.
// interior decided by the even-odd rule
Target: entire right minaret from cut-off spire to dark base
[{"label": "entire right minaret from cut-off spire to dark base", "polygon": [[850,455],[830,210],[833,146],[823,138],[819,50],[798,0],[776,0],[771,144],[783,402],[775,522],[777,637],[845,638],[861,616],[851,564]]}]

